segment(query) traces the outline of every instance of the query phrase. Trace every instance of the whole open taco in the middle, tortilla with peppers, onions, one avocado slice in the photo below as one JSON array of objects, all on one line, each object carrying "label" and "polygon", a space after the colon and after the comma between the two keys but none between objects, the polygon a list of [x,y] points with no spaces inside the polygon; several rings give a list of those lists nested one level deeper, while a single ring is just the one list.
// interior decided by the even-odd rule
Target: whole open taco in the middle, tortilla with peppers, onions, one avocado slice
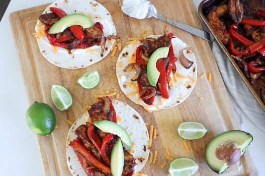
[{"label": "whole open taco in the middle, tortilla with peppers, onions, one avocado slice", "polygon": [[[151,77],[154,70],[158,70],[155,82]],[[176,106],[188,97],[196,81],[196,60],[193,50],[173,33],[152,35],[123,49],[116,72],[121,90],[154,111]]]}]

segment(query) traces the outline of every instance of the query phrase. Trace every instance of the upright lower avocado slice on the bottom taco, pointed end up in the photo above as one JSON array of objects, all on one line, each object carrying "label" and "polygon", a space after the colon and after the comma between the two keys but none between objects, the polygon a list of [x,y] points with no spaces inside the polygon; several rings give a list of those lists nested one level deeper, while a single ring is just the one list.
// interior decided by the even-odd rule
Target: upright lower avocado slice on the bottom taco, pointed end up
[{"label": "upright lower avocado slice on the bottom taco, pointed end up", "polygon": [[110,169],[112,176],[121,176],[124,166],[124,152],[121,140],[118,139],[113,145],[110,155]]}]

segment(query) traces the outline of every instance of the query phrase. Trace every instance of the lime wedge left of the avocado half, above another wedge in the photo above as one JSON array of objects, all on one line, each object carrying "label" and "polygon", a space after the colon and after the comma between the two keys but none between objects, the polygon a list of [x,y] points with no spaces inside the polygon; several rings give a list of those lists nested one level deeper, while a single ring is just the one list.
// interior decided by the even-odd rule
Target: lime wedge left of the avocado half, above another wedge
[{"label": "lime wedge left of the avocado half, above another wedge", "polygon": [[187,140],[199,139],[204,136],[208,130],[199,122],[186,121],[180,123],[177,132],[180,137]]}]

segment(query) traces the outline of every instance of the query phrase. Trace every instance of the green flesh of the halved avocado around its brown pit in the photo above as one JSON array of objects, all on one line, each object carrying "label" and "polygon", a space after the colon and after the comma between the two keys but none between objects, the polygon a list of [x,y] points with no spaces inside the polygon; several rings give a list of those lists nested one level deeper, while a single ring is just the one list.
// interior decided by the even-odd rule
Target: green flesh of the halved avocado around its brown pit
[{"label": "green flesh of the halved avocado around its brown pit", "polygon": [[227,165],[226,162],[219,160],[216,157],[216,149],[218,146],[223,143],[224,141],[234,141],[239,144],[241,149],[241,156],[244,154],[247,147],[252,142],[253,137],[250,133],[240,131],[240,130],[233,130],[233,131],[226,131],[217,135],[213,138],[206,148],[206,161],[209,167],[216,173],[221,174],[226,171],[230,166]]}]

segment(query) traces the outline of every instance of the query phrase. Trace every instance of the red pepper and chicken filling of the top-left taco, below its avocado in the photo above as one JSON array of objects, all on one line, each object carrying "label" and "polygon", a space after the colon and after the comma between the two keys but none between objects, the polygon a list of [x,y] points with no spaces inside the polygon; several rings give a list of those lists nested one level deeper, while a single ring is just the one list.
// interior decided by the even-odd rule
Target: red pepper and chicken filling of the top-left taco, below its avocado
[{"label": "red pepper and chicken filling of the top-left taco, below its avocado", "polygon": [[105,43],[107,39],[119,39],[115,35],[104,37],[104,26],[96,22],[91,27],[83,28],[79,25],[73,25],[65,29],[63,32],[50,34],[50,28],[55,25],[67,13],[57,7],[50,7],[50,13],[44,13],[39,16],[39,20],[45,26],[45,34],[50,44],[56,47],[65,48],[71,54],[72,49],[86,49],[94,45],[100,46],[100,56],[103,56]]}]

